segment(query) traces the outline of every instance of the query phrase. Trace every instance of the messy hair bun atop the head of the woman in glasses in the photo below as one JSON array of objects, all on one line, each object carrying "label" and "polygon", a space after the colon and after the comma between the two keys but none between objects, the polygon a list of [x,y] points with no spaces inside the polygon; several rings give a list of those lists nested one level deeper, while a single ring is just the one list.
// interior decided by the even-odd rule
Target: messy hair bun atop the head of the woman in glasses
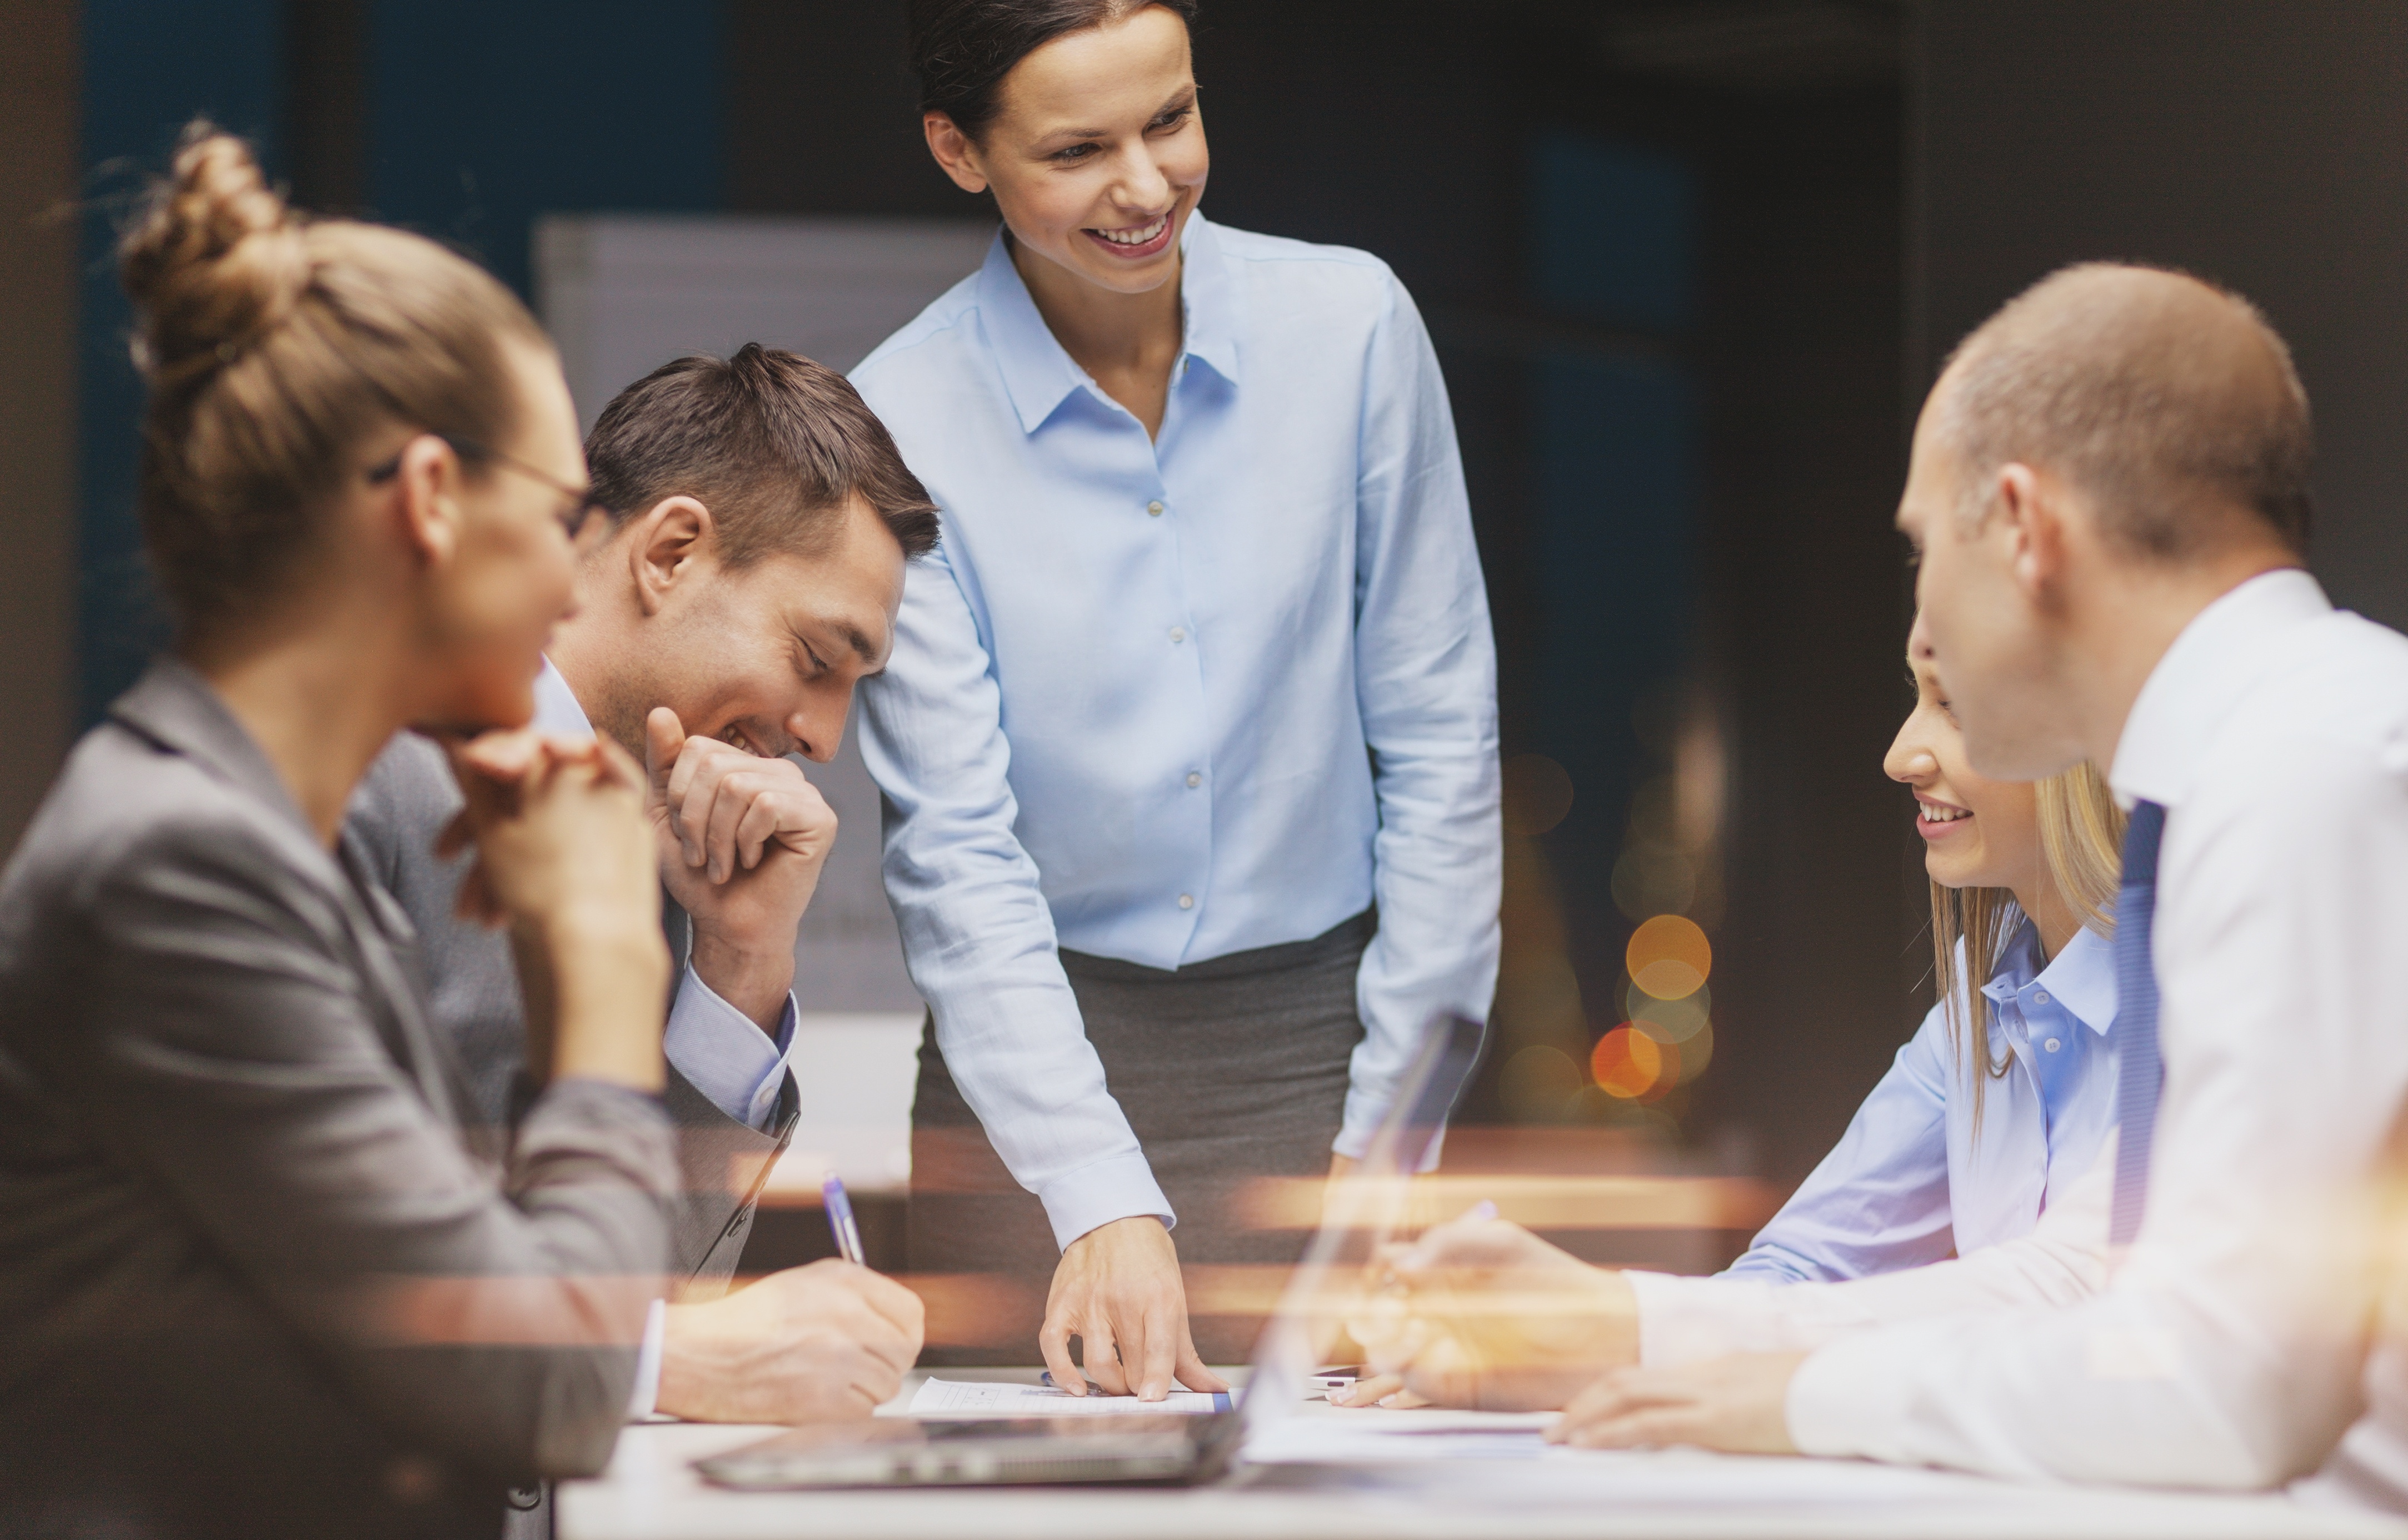
[{"label": "messy hair bun atop the head of the woman in glasses", "polygon": [[118,274],[142,315],[135,363],[169,385],[231,363],[291,315],[308,250],[250,147],[200,120],[125,233]]}]

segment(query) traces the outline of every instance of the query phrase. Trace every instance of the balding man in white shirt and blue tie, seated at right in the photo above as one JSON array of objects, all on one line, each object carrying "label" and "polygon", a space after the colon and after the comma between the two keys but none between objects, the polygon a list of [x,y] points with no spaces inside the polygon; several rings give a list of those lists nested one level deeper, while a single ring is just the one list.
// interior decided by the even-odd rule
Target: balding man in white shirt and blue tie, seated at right
[{"label": "balding man in white shirt and blue tie, seated at right", "polygon": [[1958,349],[1898,522],[1967,751],[2112,765],[2150,830],[2117,1150],[2018,1251],[1837,1285],[1854,1319],[1763,1343],[1811,1352],[1611,1369],[1553,1437],[2196,1487],[2333,1449],[2408,1085],[2408,642],[2300,570],[2307,462],[2283,342],[2179,274],[2066,270]]}]

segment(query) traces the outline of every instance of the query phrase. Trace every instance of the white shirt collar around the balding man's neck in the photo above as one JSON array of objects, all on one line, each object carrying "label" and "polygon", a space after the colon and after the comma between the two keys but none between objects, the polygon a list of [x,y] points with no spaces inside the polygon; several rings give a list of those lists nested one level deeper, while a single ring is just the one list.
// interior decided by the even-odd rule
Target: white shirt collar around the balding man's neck
[{"label": "white shirt collar around the balding man's neck", "polygon": [[2117,801],[2182,806],[2199,753],[2271,659],[2268,642],[2333,602],[2300,568],[2259,573],[2191,616],[2124,719],[2107,784]]}]

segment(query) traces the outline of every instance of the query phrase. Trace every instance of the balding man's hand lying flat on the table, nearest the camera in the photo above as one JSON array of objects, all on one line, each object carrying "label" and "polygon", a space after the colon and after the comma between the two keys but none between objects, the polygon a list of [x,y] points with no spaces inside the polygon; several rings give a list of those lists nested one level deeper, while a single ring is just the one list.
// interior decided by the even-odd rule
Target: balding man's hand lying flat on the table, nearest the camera
[{"label": "balding man's hand lying flat on the table, nearest the camera", "polygon": [[1563,1408],[1546,1441],[1796,1453],[1789,1441],[1789,1381],[1804,1362],[1804,1352],[1741,1352],[1666,1369],[1611,1369]]}]

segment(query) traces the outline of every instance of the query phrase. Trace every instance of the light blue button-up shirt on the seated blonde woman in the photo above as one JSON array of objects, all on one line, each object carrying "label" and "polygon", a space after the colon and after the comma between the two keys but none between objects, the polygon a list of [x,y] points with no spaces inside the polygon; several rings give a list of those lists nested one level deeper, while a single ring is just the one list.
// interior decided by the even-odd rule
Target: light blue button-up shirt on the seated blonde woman
[{"label": "light blue button-up shirt on the seated blonde woman", "polygon": [[2114,1126],[2114,943],[2076,931],[2042,967],[2025,922],[1982,994],[2008,1068],[1982,1083],[1979,1129],[1958,1032],[1934,1006],[1731,1275],[1837,1283],[1994,1246],[2090,1169]]}]

